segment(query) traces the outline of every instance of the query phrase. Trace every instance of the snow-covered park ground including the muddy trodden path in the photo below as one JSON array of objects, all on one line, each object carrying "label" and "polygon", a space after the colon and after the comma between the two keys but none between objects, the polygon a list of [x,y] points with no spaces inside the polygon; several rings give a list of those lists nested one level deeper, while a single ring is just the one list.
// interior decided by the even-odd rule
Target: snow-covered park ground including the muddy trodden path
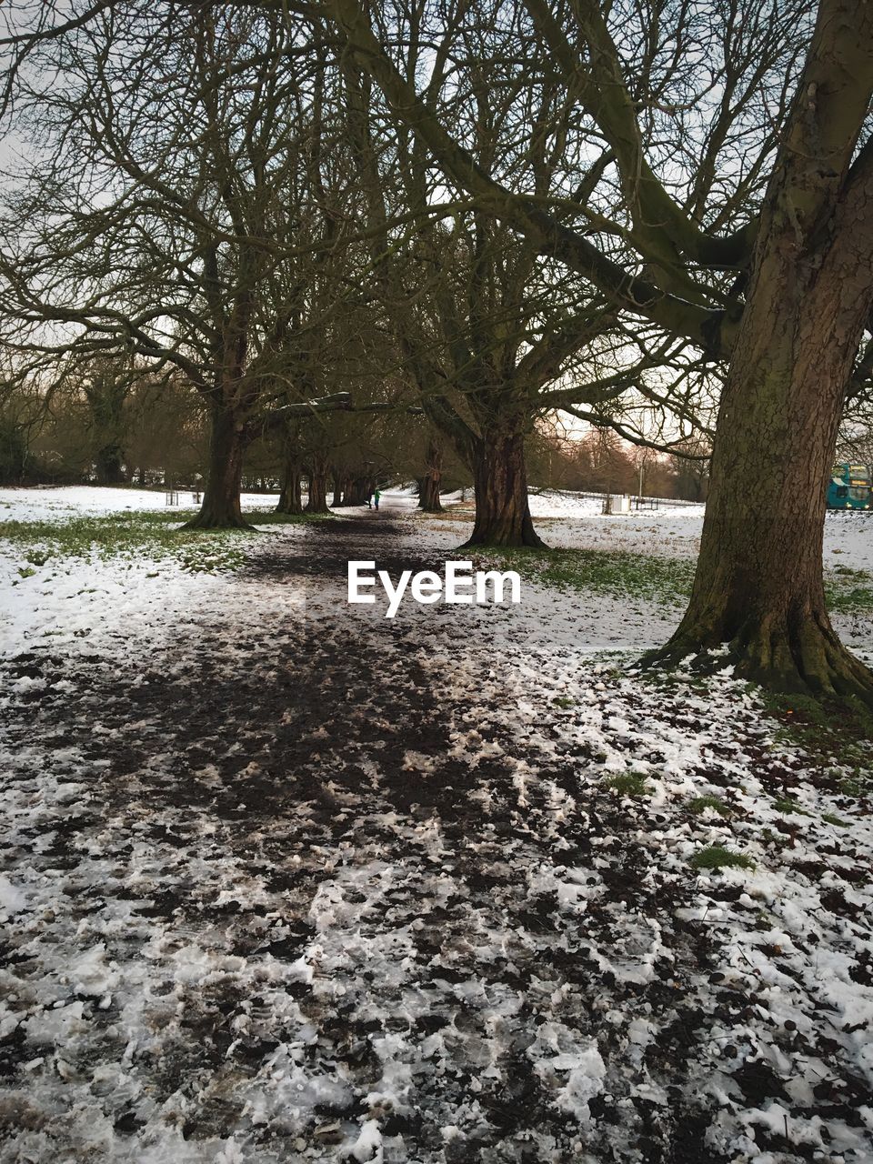
[{"label": "snow-covered park ground including the muddy trodden path", "polygon": [[[0,545],[0,1164],[868,1164],[870,752],[638,675],[651,597],[349,608],[348,559],[462,540],[411,508],[215,573]],[[702,521],[532,509],[665,558]]]}]

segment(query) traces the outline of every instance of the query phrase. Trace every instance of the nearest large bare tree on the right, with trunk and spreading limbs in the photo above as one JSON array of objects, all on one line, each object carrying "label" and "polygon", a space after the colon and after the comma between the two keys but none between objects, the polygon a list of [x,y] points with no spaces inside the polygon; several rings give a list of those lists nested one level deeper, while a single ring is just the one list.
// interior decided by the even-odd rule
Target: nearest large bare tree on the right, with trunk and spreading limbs
[{"label": "nearest large bare tree on the right, with trunk and spreading limbs", "polygon": [[616,305],[730,364],[694,594],[655,658],[704,663],[729,644],[739,673],[771,687],[872,702],[822,582],[824,484],[873,301],[870,7],[821,0],[812,22],[805,5],[526,0],[519,52],[541,37],[580,146],[599,141],[609,158],[575,206],[560,189],[512,191],[355,0],[325,8],[448,182]]}]

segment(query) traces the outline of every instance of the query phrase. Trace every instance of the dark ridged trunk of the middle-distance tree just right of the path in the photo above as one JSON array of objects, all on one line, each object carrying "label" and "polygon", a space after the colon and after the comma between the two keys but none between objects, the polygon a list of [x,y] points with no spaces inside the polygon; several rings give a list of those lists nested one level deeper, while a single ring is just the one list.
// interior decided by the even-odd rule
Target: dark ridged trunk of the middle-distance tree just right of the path
[{"label": "dark ridged trunk of the middle-distance tree just right of the path", "polygon": [[524,430],[495,425],[473,442],[476,520],[464,546],[542,548],[527,504]]}]

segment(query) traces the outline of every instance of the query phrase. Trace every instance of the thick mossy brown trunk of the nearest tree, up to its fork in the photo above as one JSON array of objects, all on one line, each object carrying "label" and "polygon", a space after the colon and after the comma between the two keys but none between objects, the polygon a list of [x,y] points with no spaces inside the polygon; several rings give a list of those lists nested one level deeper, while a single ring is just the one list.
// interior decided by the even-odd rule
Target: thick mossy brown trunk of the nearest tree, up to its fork
[{"label": "thick mossy brown trunk of the nearest tree, up to its fork", "polygon": [[[793,190],[790,166],[815,159],[793,144],[797,161],[768,191],[722,398],[691,601],[653,658],[707,662],[729,644],[736,673],[773,690],[873,705],[873,674],[837,638],[822,580],[825,487],[873,301],[873,165],[864,159],[847,191],[816,191],[833,169]],[[804,219],[810,190],[819,205]]]}]

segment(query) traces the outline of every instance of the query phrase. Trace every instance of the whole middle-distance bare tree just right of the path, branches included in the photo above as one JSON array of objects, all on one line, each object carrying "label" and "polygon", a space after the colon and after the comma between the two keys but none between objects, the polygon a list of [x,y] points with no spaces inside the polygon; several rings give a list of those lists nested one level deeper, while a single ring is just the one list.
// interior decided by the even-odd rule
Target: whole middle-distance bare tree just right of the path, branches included
[{"label": "whole middle-distance bare tree just right of the path, branches included", "polygon": [[[513,9],[460,3],[435,13],[420,0],[375,19],[398,73],[416,76],[426,61],[421,100],[470,142],[474,165],[498,169],[508,189],[540,198],[568,180],[563,143],[574,105],[558,74],[538,72],[516,51]],[[396,21],[400,36],[390,35]],[[524,453],[537,417],[645,388],[660,363],[684,360],[687,379],[687,343],[631,328],[596,289],[544,263],[535,243],[477,204],[461,200],[448,222],[434,220],[427,212],[445,198],[445,179],[425,141],[379,107],[354,61],[343,59],[343,72],[375,228],[374,286],[428,419],[473,474],[468,544],[541,546]],[[398,239],[390,223],[404,212],[417,215],[417,227]]]}]

